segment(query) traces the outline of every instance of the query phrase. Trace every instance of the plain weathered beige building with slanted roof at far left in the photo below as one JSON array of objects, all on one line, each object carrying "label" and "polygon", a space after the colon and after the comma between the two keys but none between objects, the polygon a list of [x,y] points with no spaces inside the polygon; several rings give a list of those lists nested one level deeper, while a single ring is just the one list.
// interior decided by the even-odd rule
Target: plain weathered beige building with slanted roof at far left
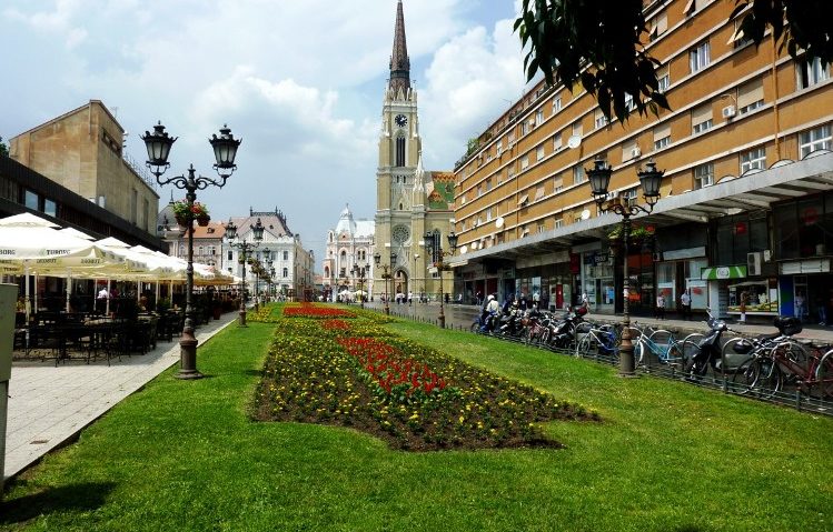
[{"label": "plain weathered beige building with slanted roof at far left", "polygon": [[9,141],[12,159],[156,234],[153,178],[125,158],[125,130],[101,101],[90,100]]}]

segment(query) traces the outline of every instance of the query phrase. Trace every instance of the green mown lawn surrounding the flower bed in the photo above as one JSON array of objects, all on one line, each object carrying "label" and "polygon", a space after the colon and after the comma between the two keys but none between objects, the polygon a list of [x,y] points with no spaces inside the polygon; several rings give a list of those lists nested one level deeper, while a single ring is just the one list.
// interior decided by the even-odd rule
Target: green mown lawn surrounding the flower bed
[{"label": "green mown lawn surrounding the flower bed", "polygon": [[833,530],[833,420],[430,325],[389,330],[599,412],[559,450],[393,451],[248,416],[275,325],[200,347],[8,486],[2,530]]}]

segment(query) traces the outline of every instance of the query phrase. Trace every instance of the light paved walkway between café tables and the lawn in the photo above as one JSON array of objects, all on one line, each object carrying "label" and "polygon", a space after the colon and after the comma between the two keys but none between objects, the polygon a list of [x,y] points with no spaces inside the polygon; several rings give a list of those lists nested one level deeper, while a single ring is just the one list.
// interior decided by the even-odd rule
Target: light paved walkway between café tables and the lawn
[{"label": "light paved walkway between caf\u00e9 tables and the lawn", "polygon": [[[197,329],[202,345],[237,319],[228,312]],[[199,351],[198,351],[199,354]],[[199,368],[199,357],[197,359]],[[9,381],[4,478],[13,476],[42,455],[73,439],[119,401],[179,362],[179,340],[159,342],[146,354],[87,364],[53,360],[14,361]],[[185,385],[185,383],[184,383]]]}]

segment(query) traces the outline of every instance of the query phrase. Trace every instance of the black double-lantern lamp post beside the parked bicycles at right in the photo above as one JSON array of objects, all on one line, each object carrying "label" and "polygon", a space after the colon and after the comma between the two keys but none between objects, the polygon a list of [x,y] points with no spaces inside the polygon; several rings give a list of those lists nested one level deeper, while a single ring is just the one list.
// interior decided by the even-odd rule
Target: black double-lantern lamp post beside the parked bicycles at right
[{"label": "black double-lantern lamp post beside the parked bicycles at right", "polygon": [[594,168],[586,169],[589,178],[591,188],[593,189],[593,199],[598,205],[599,212],[614,212],[622,217],[622,242],[624,251],[624,289],[622,301],[622,344],[619,345],[619,377],[635,377],[635,364],[634,364],[634,345],[631,342],[631,315],[628,314],[629,303],[629,289],[631,279],[627,273],[627,240],[631,237],[631,217],[638,214],[639,212],[649,213],[654,210],[654,205],[660,200],[660,184],[663,181],[664,170],[657,170],[656,163],[653,160],[647,162],[645,170],[639,170],[637,175],[639,177],[639,183],[643,189],[643,197],[647,207],[637,204],[623,203],[618,198],[608,201],[607,187],[611,184],[611,174],[613,169],[607,165],[603,159],[596,159]]}]

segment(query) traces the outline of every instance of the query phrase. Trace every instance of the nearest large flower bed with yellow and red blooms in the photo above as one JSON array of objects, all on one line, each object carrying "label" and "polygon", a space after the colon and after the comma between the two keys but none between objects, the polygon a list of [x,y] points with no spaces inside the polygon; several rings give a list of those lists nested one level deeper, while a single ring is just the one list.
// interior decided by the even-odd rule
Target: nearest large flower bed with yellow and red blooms
[{"label": "nearest large flower bed with yellow and red blooms", "polygon": [[358,337],[361,322],[344,329],[282,320],[257,390],[256,416],[354,426],[395,449],[423,451],[559,446],[545,438],[541,422],[598,419],[398,337]]}]

